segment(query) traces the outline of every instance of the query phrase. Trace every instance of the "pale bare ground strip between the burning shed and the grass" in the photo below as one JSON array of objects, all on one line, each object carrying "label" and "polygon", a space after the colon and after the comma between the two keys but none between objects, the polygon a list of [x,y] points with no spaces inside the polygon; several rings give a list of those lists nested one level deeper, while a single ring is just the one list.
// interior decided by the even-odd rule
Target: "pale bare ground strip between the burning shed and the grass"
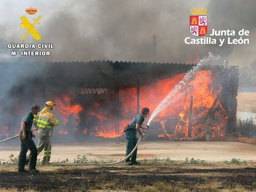
[{"label": "pale bare ground strip between the burning shed and the grass", "polygon": [[[4,143],[3,143],[4,144]],[[10,154],[19,154],[20,144],[13,146],[0,144],[0,161],[9,160]],[[73,162],[77,155],[86,155],[88,160],[119,160],[124,157],[126,142],[119,141],[86,141],[86,142],[53,142],[51,161],[62,161],[68,158]],[[207,161],[224,161],[232,158],[241,160],[256,159],[256,145],[238,142],[202,142],[142,140],[138,147],[138,160],[167,158],[184,160],[195,158]],[[38,155],[43,159],[43,154]]]}]

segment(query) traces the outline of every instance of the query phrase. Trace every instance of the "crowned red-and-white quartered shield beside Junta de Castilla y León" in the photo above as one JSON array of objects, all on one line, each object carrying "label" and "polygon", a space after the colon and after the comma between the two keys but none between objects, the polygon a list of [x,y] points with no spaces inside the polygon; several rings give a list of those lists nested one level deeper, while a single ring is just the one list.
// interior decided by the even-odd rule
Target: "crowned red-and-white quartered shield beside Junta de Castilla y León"
[{"label": "crowned red-and-white quartered shield beside Junta de Castilla y Le\u00f3n", "polygon": [[[190,33],[193,36],[203,36],[207,33],[207,9],[190,9]],[[202,15],[202,16],[201,16]]]}]

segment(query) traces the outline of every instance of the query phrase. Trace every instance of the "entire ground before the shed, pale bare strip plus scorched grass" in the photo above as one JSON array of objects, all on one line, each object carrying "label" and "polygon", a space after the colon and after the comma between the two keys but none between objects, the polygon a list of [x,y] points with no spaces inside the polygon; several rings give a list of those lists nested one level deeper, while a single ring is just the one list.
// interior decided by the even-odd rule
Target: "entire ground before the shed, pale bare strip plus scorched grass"
[{"label": "entire ground before the shed, pale bare strip plus scorched grass", "polygon": [[[142,140],[138,149],[141,165],[128,166],[122,162],[106,166],[101,162],[123,158],[125,145],[124,140],[53,142],[51,161],[55,163],[38,163],[39,174],[18,173],[17,162],[1,164],[0,191],[256,191],[256,145]],[[1,145],[0,161],[9,160],[10,154],[15,158],[18,153],[18,143]],[[74,162],[79,154],[89,162],[97,160],[97,164],[58,166],[67,158]],[[231,163],[232,158],[240,160]],[[42,154],[38,159],[42,159]]]}]

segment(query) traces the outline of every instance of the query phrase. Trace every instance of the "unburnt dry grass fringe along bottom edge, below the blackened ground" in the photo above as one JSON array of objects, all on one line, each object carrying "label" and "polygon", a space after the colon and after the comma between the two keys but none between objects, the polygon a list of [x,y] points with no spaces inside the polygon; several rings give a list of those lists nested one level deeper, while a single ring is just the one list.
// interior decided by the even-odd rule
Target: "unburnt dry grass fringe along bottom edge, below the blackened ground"
[{"label": "unburnt dry grass fringe along bottom edge, below the blackened ground", "polygon": [[[99,189],[100,188],[100,189]],[[0,188],[0,192],[36,192],[38,190],[18,188]],[[80,183],[77,186],[59,187],[57,191],[61,192],[74,192],[74,191],[89,191],[89,192],[255,192],[255,190],[246,190],[246,188],[240,184],[235,183],[233,186],[223,186],[221,182],[210,181],[208,183],[197,183],[193,186],[188,186],[184,182],[155,182],[152,185],[134,185],[132,188],[129,186],[121,186],[116,182],[104,182],[101,181],[97,186],[88,189],[85,183]]]}]

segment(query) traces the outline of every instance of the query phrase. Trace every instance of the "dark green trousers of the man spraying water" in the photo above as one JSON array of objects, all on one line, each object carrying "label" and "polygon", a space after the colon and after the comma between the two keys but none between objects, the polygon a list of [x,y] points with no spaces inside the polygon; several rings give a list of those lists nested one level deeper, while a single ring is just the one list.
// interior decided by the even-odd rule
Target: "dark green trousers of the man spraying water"
[{"label": "dark green trousers of the man spraying water", "polygon": [[[133,148],[137,144],[138,139],[137,139],[136,134],[137,134],[137,132],[132,131],[132,130],[126,131],[126,156],[128,156],[130,154],[130,152],[132,152]],[[132,162],[135,162],[136,157],[137,157],[137,149],[134,151],[134,153],[130,157],[130,160]]]}]

